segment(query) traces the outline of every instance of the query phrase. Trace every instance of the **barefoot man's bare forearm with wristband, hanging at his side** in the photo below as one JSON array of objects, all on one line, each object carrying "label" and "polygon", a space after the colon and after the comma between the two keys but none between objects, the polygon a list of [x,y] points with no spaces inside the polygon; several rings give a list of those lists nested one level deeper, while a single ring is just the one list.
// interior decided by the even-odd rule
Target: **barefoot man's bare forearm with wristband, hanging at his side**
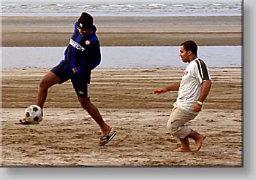
[{"label": "barefoot man's bare forearm with wristband, hanging at his side", "polygon": [[201,111],[203,104],[199,104],[199,103],[203,103],[203,101],[206,100],[207,95],[210,92],[210,90],[211,90],[211,80],[204,81],[203,84],[202,84],[201,93],[200,93],[199,98],[197,100],[199,102],[196,102],[193,105],[193,111],[195,111],[195,112]]}]

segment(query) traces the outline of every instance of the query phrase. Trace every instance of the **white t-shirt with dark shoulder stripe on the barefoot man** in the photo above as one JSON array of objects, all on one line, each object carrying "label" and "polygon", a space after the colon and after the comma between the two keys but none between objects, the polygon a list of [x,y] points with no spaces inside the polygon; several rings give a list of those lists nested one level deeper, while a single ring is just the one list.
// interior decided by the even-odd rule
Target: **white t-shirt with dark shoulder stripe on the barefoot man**
[{"label": "white t-shirt with dark shoulder stripe on the barefoot man", "polygon": [[177,105],[189,113],[198,114],[192,110],[192,106],[198,101],[202,89],[202,82],[206,80],[211,80],[206,63],[200,58],[195,58],[195,60],[189,63],[183,73],[178,89]]}]

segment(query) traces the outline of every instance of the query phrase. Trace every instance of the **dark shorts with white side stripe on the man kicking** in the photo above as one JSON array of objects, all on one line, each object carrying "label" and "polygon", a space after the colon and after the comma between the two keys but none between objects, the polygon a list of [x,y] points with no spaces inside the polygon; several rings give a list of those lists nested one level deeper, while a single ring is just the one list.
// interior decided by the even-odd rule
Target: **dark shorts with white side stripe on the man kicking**
[{"label": "dark shorts with white side stripe on the man kicking", "polygon": [[75,89],[75,93],[77,93],[78,97],[80,98],[89,98],[90,97],[90,80],[91,80],[91,73],[90,74],[73,74],[69,68],[64,68],[65,65],[59,63],[50,71],[56,74],[62,84],[67,80],[71,79],[72,85]]}]

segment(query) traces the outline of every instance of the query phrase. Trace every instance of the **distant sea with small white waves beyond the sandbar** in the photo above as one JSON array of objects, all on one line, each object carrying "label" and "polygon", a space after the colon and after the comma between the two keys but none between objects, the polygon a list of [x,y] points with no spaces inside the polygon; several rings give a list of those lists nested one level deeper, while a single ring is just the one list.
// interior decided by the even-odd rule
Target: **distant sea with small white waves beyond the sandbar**
[{"label": "distant sea with small white waves beyond the sandbar", "polygon": [[11,1],[1,2],[2,16],[216,16],[242,13],[240,0],[178,1]]}]

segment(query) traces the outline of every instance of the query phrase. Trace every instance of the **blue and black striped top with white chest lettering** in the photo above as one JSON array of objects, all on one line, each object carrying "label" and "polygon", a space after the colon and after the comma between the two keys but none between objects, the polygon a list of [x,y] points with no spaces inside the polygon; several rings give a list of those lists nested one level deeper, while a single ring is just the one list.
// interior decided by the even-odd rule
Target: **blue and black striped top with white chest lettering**
[{"label": "blue and black striped top with white chest lettering", "polygon": [[[99,40],[96,36],[97,28],[92,26],[92,34],[81,35],[78,31],[78,22],[75,23],[75,30],[69,40],[69,45],[64,52],[64,63],[65,69],[69,69],[70,77],[89,77],[91,70],[96,68],[101,60]],[[78,69],[76,74],[73,73],[72,69]]]}]

